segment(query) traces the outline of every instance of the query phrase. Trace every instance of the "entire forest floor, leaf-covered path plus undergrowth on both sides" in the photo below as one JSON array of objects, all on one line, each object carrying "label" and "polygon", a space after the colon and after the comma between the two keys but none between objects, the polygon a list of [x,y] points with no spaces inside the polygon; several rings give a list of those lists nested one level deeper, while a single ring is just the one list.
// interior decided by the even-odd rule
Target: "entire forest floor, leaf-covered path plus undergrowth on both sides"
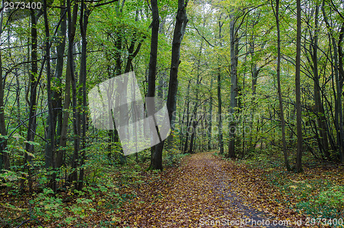
[{"label": "entire forest floor, leaf-covered path plus undergrowth on both sides", "polygon": [[343,222],[343,166],[305,166],[303,174],[294,174],[279,159],[267,160],[205,152],[163,172],[144,171],[143,163],[109,167],[83,191],[2,191],[0,226],[343,227],[319,223]]}]

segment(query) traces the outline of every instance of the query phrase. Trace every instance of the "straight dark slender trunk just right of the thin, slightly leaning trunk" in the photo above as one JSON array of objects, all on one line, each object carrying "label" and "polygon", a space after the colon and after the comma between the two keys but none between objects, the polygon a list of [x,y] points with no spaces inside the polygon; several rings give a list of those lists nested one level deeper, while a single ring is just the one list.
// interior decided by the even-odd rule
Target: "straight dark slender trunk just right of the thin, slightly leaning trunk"
[{"label": "straight dark slender trunk just right of the thin, slightly leaning trunk", "polygon": [[297,0],[297,57],[295,72],[295,97],[297,108],[297,164],[296,172],[302,172],[302,116],[301,116],[301,0]]}]

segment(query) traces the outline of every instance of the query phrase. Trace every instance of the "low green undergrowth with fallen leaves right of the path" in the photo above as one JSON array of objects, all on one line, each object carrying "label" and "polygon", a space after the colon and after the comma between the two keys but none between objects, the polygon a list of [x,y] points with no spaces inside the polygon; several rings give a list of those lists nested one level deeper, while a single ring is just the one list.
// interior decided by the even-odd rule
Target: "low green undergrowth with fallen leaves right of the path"
[{"label": "low green undergrowth with fallen leaves right of the path", "polygon": [[261,169],[266,181],[279,189],[284,196],[283,203],[291,209],[309,218],[344,218],[344,167],[320,163],[306,153],[304,172],[295,174],[286,172],[282,155],[282,152],[259,153],[237,160],[237,163],[245,164],[250,169]]}]

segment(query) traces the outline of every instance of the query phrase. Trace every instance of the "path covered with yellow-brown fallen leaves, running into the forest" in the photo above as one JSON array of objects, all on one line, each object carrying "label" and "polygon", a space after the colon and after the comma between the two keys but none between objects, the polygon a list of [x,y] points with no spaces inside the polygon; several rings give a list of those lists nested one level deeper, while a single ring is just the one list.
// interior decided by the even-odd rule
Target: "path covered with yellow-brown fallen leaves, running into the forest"
[{"label": "path covered with yellow-brown fallen leaves, running into the forest", "polygon": [[109,215],[120,227],[290,227],[286,220],[301,227],[295,222],[302,216],[277,203],[281,195],[259,172],[212,152],[147,174],[144,184],[125,191],[136,197]]}]

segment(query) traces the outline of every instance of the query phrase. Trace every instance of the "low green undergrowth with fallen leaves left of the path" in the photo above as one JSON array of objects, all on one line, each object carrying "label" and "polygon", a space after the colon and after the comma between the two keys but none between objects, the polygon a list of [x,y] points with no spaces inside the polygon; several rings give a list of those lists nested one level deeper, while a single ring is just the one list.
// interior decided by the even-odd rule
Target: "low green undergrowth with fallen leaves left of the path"
[{"label": "low green undergrowth with fallen leaves left of the path", "polygon": [[[138,157],[128,156],[126,165],[118,165],[106,154],[95,153],[97,159],[89,159],[85,165],[87,175],[82,191],[62,183],[54,192],[43,187],[47,180],[37,178],[34,193],[25,189],[26,193],[21,194],[19,176],[13,172],[3,174],[13,182],[8,183],[7,191],[0,191],[0,227],[114,227],[118,218],[109,217],[101,222],[99,218],[118,212],[136,197],[135,190],[128,194],[122,189],[138,189],[142,183],[154,180],[157,171],[144,171],[149,165],[149,156],[150,152],[144,151]],[[184,156],[186,154],[175,150],[164,152],[164,167],[178,165]],[[152,178],[146,178],[147,175]]]}]

